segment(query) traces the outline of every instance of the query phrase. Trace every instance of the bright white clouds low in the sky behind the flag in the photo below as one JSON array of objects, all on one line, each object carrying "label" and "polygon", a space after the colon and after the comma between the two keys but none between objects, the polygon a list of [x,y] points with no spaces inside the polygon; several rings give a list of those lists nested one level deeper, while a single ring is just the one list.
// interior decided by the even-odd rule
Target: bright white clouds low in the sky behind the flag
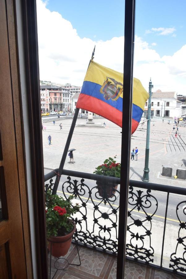
[{"label": "bright white clouds low in the sky behind the flag", "polygon": [[[80,38],[68,20],[51,12],[41,0],[37,0],[37,23],[41,80],[82,85],[94,45],[97,63],[123,72],[124,37],[108,41]],[[146,89],[152,77],[154,89],[186,93],[186,45],[163,57],[152,46],[155,43],[149,45],[135,37],[134,76]]]}]

